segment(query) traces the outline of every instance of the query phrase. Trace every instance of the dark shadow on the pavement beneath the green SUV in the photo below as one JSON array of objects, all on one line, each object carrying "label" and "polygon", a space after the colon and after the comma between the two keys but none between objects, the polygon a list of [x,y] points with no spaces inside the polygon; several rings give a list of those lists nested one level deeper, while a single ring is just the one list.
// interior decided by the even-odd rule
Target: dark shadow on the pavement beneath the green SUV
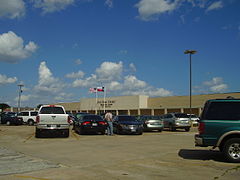
[{"label": "dark shadow on the pavement beneath the green SUV", "polygon": [[190,160],[214,160],[218,162],[226,162],[223,154],[216,150],[195,150],[195,149],[181,149],[178,155],[183,159]]}]

